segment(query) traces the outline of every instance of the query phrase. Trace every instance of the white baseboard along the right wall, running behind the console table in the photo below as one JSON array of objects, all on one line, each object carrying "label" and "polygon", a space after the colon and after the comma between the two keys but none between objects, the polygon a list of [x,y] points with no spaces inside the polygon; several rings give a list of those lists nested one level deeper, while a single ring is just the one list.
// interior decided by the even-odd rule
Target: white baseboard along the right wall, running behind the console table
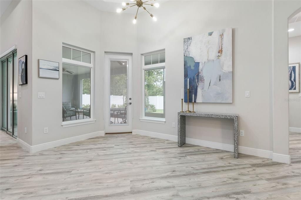
[{"label": "white baseboard along the right wall, running behind the console table", "polygon": [[[161,139],[165,139],[165,140],[178,141],[178,136],[150,132],[150,131],[133,130],[132,134],[133,135],[139,134],[139,135],[145,135],[145,136],[149,136],[149,137],[153,137],[153,138],[161,138]],[[193,138],[186,138],[186,143],[203,146],[203,147],[210,147],[210,148],[214,148],[214,149],[225,150],[225,151],[231,151],[231,152],[234,151],[234,146],[232,144],[222,144],[222,143],[218,143],[218,142],[210,142],[210,141],[198,140],[198,139],[193,139]],[[263,150],[263,149],[254,149],[254,148],[243,147],[243,146],[239,146],[239,153],[244,153],[247,155],[259,156],[262,158],[269,158],[269,159],[272,159],[272,157],[273,157],[272,151]]]}]

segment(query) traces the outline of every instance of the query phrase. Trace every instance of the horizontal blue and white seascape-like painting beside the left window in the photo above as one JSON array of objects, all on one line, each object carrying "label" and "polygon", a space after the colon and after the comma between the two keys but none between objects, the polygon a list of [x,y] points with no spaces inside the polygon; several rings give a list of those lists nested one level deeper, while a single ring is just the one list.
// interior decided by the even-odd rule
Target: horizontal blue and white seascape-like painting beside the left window
[{"label": "horizontal blue and white seascape-like painting beside the left window", "polygon": [[39,77],[59,79],[59,63],[39,59]]}]

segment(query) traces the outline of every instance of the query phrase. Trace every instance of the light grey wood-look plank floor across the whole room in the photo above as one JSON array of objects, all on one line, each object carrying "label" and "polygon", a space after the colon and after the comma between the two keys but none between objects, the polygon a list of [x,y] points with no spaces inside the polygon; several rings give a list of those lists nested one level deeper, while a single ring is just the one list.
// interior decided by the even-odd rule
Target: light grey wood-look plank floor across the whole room
[{"label": "light grey wood-look plank floor across the whole room", "polygon": [[37,153],[0,133],[1,199],[301,199],[301,134],[290,165],[141,135]]}]

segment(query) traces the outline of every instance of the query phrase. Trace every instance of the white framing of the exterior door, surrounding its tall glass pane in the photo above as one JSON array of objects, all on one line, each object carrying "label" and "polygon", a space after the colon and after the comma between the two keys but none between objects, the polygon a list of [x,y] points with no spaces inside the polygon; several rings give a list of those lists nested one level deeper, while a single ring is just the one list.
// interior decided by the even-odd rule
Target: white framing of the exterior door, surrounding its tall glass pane
[{"label": "white framing of the exterior door, surrounding its tall glass pane", "polygon": [[[127,124],[110,124],[110,61],[120,60],[127,61]],[[130,133],[132,132],[133,122],[133,107],[132,104],[132,91],[133,80],[133,56],[132,53],[105,53],[104,56],[104,131],[110,133]],[[132,100],[129,100],[132,98]]]}]

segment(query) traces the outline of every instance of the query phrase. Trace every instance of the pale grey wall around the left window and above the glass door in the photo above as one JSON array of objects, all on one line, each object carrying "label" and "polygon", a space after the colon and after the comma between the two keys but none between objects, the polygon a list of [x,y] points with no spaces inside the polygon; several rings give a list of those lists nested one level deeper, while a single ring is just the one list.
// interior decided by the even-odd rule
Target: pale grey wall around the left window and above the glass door
[{"label": "pale grey wall around the left window and above the glass door", "polygon": [[[101,12],[82,1],[33,1],[33,145],[104,130],[104,52],[135,55],[136,29],[131,19],[132,15]],[[95,51],[93,124],[63,128],[62,78],[38,77],[38,59],[62,66],[63,42]],[[45,98],[38,99],[38,92],[45,92]],[[43,133],[44,127],[48,134]]]}]

